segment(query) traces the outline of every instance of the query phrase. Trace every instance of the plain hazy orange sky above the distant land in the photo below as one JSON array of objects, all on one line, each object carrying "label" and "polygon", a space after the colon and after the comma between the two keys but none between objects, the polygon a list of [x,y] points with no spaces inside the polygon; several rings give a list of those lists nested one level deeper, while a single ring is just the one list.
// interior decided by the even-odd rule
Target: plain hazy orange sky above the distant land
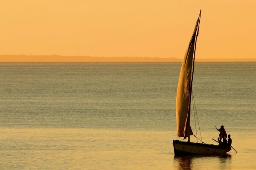
[{"label": "plain hazy orange sky above the distant land", "polygon": [[256,0],[0,0],[0,54],[256,58]]}]

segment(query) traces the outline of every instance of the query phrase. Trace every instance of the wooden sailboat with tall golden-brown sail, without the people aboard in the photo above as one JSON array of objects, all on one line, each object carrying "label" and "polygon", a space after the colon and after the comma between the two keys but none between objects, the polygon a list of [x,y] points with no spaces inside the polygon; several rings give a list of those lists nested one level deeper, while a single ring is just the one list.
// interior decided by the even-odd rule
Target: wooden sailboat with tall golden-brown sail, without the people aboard
[{"label": "wooden sailboat with tall golden-brown sail, without the people aboard", "polygon": [[180,69],[180,78],[176,96],[177,136],[183,137],[184,139],[188,138],[188,142],[173,140],[175,156],[193,154],[219,155],[227,153],[231,150],[231,146],[205,144],[204,142],[190,142],[190,136],[194,135],[190,127],[190,110],[195,66],[195,50],[197,37],[199,34],[200,19],[201,10]]}]

